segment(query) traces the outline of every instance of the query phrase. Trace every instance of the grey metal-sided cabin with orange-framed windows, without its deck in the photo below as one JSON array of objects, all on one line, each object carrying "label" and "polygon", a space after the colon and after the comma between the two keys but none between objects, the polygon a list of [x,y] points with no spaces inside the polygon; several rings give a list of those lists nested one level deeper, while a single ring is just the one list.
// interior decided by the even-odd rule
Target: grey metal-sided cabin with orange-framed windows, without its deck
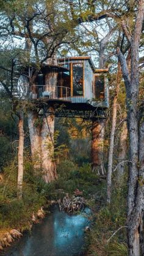
[{"label": "grey metal-sided cabin with orange-framed windows, without its deck", "polygon": [[91,57],[70,57],[59,59],[59,65],[68,68],[69,75],[59,76],[62,85],[71,88],[72,103],[86,103],[102,108],[109,107],[109,88],[106,73],[108,69],[95,68]]}]

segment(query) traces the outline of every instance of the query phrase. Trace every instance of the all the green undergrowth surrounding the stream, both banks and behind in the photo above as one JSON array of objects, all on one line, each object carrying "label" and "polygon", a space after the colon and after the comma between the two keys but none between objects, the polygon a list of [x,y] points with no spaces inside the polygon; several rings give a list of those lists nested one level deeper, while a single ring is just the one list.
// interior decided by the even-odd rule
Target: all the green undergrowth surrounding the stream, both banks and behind
[{"label": "all the green undergrowth surrounding the stream, both banks and behind", "polygon": [[[4,169],[0,183],[0,229],[29,229],[33,212],[48,200],[62,199],[65,193],[73,195],[77,188],[83,192],[93,208],[93,225],[88,237],[89,254],[98,256],[126,256],[126,229],[112,234],[126,222],[126,182],[113,182],[112,202],[106,204],[106,180],[92,172],[90,164],[81,167],[73,161],[62,161],[57,166],[58,179],[50,184],[43,181],[41,170],[35,173],[31,159],[24,161],[23,199],[16,197],[16,160]],[[112,236],[112,238],[110,238]],[[109,240],[110,238],[110,240]],[[109,243],[107,243],[109,240]]]}]

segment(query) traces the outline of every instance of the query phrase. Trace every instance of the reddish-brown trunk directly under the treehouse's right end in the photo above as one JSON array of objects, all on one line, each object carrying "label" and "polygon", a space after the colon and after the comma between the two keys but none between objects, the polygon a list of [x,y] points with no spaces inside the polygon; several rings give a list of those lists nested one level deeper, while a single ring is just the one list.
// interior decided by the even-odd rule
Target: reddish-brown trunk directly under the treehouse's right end
[{"label": "reddish-brown trunk directly under the treehouse's right end", "polygon": [[104,175],[104,125],[105,120],[92,123],[91,159],[92,171]]}]

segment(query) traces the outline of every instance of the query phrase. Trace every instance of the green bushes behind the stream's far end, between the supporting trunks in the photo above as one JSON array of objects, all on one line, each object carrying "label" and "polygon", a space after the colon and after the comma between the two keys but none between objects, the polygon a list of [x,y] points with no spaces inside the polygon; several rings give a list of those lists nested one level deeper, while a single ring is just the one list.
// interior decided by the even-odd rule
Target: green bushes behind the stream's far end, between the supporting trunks
[{"label": "green bushes behind the stream's far end, between the supporting trunks", "polygon": [[78,188],[83,191],[84,197],[91,198],[92,194],[98,192],[99,183],[103,186],[103,181],[98,181],[98,176],[92,173],[90,164],[83,164],[79,167],[72,161],[62,161],[57,167],[58,180],[56,181],[56,189],[64,189],[65,192],[73,194]]}]

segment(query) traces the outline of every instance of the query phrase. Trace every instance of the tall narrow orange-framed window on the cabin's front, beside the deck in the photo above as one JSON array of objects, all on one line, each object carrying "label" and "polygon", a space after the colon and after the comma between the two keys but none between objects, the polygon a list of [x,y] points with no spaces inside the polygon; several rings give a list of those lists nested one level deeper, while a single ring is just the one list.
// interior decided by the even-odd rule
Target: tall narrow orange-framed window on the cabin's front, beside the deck
[{"label": "tall narrow orange-framed window on the cabin's front, beside the deck", "polygon": [[83,64],[73,64],[73,96],[83,95]]}]

